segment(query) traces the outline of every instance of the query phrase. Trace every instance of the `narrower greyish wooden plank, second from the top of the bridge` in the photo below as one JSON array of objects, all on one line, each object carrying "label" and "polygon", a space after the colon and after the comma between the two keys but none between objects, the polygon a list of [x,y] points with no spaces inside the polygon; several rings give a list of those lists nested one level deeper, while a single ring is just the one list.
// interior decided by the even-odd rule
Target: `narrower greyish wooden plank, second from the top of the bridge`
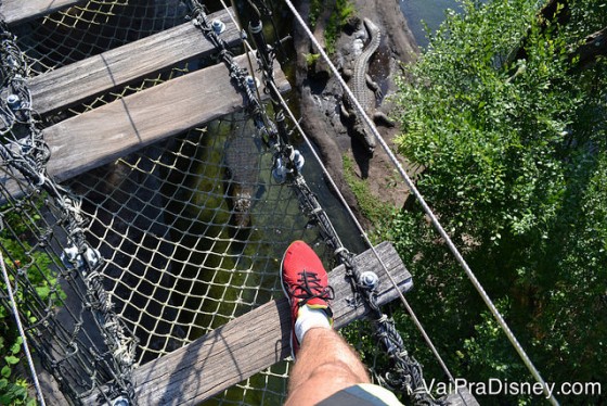
[{"label": "narrower greyish wooden plank, second from the top of the bridge", "polygon": [[[209,18],[225,24],[221,38],[228,45],[238,41],[238,29],[227,10],[210,14]],[[40,114],[66,109],[150,74],[206,56],[215,49],[199,28],[185,23],[29,79],[34,107]]]}]

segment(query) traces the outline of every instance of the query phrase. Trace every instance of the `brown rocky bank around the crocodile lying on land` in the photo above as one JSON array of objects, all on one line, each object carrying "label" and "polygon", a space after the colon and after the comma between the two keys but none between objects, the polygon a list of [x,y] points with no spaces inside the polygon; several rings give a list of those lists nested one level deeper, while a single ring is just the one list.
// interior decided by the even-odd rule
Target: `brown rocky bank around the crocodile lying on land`
[{"label": "brown rocky bank around the crocodile lying on land", "polygon": [[[334,0],[325,0],[324,14],[320,16],[314,36],[324,43],[323,28],[328,20]],[[300,1],[299,11],[307,16],[310,2]],[[402,15],[398,0],[352,0],[356,15],[350,18],[336,41],[336,50],[331,54],[336,67],[347,66],[353,60],[357,47],[365,43],[365,30],[357,21],[370,18],[382,29],[382,43],[370,63],[369,73],[379,84],[384,98],[378,100],[379,110],[393,114],[390,96],[395,93],[395,78],[402,72],[402,65],[415,61],[418,49]],[[371,192],[380,201],[402,206],[408,189],[396,176],[393,165],[387,154],[377,145],[370,155],[360,141],[348,135],[347,124],[340,116],[343,90],[337,78],[322,61],[310,65],[306,55],[317,50],[301,28],[295,27],[297,52],[296,88],[300,96],[302,126],[307,135],[318,145],[320,154],[346,201],[354,213],[359,213],[357,201],[344,180],[343,156],[349,155],[357,165],[357,176],[367,179]],[[399,134],[398,125],[392,128],[377,126],[379,134],[391,147],[392,139]],[[406,163],[403,161],[406,167]],[[359,215],[359,217],[361,217]]]}]

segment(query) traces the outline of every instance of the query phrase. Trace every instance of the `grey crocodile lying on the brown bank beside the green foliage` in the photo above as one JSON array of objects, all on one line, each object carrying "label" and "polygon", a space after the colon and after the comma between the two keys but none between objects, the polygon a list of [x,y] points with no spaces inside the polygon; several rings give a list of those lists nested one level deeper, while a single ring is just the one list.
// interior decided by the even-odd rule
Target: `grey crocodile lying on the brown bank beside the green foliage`
[{"label": "grey crocodile lying on the brown bank beside the green foliage", "polygon": [[[392,122],[386,116],[385,113],[376,110],[375,100],[382,97],[379,86],[373,81],[369,75],[369,62],[371,56],[379,48],[382,42],[382,31],[371,20],[363,20],[364,27],[369,34],[369,43],[354,60],[351,69],[344,69],[343,75],[348,80],[348,87],[352,90],[352,94],[360,102],[364,112],[374,120],[382,119],[389,126],[393,126]],[[350,128],[356,137],[358,137],[366,147],[369,152],[373,154],[375,150],[375,137],[367,129],[362,117],[354,111],[354,104],[350,98],[345,93],[341,103],[341,114],[350,124]]]}]

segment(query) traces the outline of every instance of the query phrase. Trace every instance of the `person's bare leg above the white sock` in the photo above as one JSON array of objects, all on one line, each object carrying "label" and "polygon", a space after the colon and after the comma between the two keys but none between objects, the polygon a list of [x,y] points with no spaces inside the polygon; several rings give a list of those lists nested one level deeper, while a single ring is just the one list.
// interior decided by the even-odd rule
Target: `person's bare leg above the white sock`
[{"label": "person's bare leg above the white sock", "polygon": [[359,356],[335,330],[312,328],[297,353],[285,405],[314,405],[345,388],[369,382]]}]

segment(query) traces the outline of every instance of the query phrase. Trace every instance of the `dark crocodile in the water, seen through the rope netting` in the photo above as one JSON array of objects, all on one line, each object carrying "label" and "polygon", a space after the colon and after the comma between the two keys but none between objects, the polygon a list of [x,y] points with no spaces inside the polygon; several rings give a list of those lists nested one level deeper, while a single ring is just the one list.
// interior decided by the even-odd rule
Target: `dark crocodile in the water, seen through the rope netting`
[{"label": "dark crocodile in the water, seen through the rope netting", "polygon": [[236,130],[224,144],[225,195],[237,230],[251,227],[253,203],[264,188],[259,182],[259,147],[245,130]]}]

